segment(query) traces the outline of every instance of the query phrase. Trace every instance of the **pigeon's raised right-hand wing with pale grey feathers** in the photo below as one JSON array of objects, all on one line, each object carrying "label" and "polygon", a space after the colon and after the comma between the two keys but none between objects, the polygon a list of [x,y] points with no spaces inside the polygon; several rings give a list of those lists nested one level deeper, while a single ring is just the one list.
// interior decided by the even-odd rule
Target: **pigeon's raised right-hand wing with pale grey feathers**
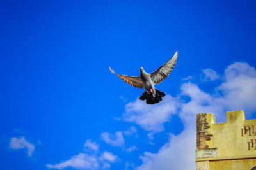
[{"label": "pigeon's raised right-hand wing with pale grey feathers", "polygon": [[172,56],[168,62],[166,62],[163,66],[159,67],[156,71],[150,74],[151,80],[153,81],[154,85],[161,83],[166,77],[169,76],[174,65],[176,64],[178,57],[178,51]]}]

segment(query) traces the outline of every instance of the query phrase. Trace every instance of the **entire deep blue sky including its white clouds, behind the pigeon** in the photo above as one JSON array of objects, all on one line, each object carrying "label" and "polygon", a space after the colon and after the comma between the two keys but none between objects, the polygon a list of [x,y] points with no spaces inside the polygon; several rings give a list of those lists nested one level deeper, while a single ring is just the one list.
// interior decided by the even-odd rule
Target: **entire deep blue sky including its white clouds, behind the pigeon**
[{"label": "entire deep blue sky including its white clouds, behind the pigeon", "polygon": [[[191,168],[196,113],[256,118],[255,1],[3,1],[0,11],[1,169]],[[108,69],[150,73],[177,48],[154,106]]]}]

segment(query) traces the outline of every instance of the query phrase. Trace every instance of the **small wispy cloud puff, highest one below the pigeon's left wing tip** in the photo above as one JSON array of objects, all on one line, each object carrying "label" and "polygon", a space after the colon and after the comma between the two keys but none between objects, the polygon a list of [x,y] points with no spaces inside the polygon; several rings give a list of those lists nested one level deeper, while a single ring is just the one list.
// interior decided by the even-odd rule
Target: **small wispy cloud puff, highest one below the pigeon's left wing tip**
[{"label": "small wispy cloud puff, highest one below the pigeon's left wing tip", "polygon": [[101,134],[101,138],[111,146],[124,146],[124,137],[120,131],[115,132],[115,134],[104,132]]}]

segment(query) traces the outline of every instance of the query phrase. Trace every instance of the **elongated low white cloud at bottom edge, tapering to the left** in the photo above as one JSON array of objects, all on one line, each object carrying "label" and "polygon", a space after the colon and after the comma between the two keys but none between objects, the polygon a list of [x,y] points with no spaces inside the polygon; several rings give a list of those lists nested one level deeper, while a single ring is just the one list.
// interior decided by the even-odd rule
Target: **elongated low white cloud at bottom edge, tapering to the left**
[{"label": "elongated low white cloud at bottom edge, tapering to the left", "polygon": [[46,166],[49,169],[64,169],[66,167],[73,167],[74,169],[97,169],[99,167],[99,163],[95,156],[88,155],[86,153],[79,153],[60,164],[47,164]]}]

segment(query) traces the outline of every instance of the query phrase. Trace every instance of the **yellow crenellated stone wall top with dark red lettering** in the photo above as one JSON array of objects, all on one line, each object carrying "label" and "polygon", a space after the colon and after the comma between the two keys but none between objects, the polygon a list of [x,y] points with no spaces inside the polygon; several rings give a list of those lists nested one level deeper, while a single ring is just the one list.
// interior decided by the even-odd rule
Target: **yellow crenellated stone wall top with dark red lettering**
[{"label": "yellow crenellated stone wall top with dark red lettering", "polygon": [[227,122],[216,123],[212,113],[196,115],[196,169],[256,168],[256,120],[244,111],[228,111]]}]

